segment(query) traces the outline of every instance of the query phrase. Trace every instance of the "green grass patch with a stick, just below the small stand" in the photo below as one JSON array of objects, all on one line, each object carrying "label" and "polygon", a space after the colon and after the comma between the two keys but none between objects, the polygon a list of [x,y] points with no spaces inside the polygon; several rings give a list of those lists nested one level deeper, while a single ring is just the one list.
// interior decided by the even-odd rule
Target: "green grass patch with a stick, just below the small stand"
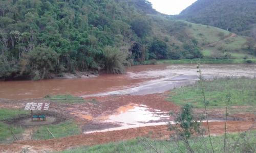
[{"label": "green grass patch with a stick, just below the small stand", "polygon": [[53,137],[47,128],[51,131],[55,138],[68,137],[80,133],[80,129],[77,124],[71,121],[66,121],[56,125],[40,126],[39,129],[33,133],[33,139],[52,139]]}]

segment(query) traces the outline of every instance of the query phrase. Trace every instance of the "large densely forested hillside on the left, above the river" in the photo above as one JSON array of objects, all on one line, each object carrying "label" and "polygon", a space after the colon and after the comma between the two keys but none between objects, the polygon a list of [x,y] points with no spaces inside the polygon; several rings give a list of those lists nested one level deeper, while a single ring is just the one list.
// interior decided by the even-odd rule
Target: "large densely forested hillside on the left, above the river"
[{"label": "large densely forested hillside on the left, above the river", "polygon": [[[146,60],[202,58],[203,46],[229,35],[171,20],[144,0],[5,0],[0,2],[0,79],[122,73],[125,65]],[[245,47],[226,49],[226,44],[220,59]]]}]

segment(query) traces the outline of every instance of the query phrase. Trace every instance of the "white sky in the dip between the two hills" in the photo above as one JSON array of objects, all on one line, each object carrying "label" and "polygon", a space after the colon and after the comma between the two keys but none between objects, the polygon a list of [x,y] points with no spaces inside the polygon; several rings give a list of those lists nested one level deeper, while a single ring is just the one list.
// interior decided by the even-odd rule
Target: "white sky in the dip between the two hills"
[{"label": "white sky in the dip between the two hills", "polygon": [[176,15],[197,0],[148,0],[158,12]]}]

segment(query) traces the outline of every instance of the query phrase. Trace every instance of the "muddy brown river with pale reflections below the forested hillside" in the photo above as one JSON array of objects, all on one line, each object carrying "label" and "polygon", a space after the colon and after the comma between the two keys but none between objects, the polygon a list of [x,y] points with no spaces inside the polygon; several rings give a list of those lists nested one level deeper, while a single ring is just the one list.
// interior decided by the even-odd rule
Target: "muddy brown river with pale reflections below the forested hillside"
[{"label": "muddy brown river with pale reflections below the forested hillside", "polygon": [[[256,65],[204,64],[201,67],[206,78],[256,75]],[[179,84],[189,84],[195,80],[197,80],[195,64],[143,65],[127,68],[126,74],[101,74],[97,78],[0,82],[0,98],[38,98],[47,94],[66,93],[84,97],[150,94],[164,92],[172,89],[170,86],[174,88]]]}]

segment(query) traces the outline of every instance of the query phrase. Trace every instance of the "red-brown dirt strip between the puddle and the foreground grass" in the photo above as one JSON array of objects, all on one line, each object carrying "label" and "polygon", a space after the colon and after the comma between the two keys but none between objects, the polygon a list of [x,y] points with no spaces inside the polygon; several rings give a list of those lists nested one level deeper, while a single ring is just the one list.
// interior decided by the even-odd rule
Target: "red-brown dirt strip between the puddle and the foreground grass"
[{"label": "red-brown dirt strip between the puddle and the foreground grass", "polygon": [[[203,123],[205,126],[206,124]],[[224,133],[224,122],[210,122],[210,132],[211,134],[222,134]],[[227,131],[232,132],[243,132],[249,130],[253,126],[251,121],[228,121]],[[253,126],[253,129],[256,129]],[[125,139],[132,139],[138,136],[145,136],[149,132],[153,132],[154,135],[161,135],[163,137],[168,137],[171,133],[167,131],[166,125],[159,126],[147,126],[139,127],[134,129],[103,132],[103,133],[93,133],[93,134],[81,134],[66,138],[50,139],[50,140],[32,140],[32,141],[16,141],[12,144],[0,145],[1,152],[20,152],[25,147],[30,148],[35,152],[46,152],[46,151],[60,151],[68,149],[75,146],[83,145],[96,145],[103,144],[113,141],[121,141]]]}]

